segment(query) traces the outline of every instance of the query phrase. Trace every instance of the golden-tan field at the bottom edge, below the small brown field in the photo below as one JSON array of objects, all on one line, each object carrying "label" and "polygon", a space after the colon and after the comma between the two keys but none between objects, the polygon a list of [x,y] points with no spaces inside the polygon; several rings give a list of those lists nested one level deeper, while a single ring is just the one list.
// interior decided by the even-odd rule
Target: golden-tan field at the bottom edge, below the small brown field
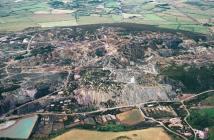
[{"label": "golden-tan field at the bottom edge, below the small brown field", "polygon": [[70,138],[75,140],[171,140],[171,137],[165,133],[164,129],[162,128],[149,128],[126,132],[98,132],[73,129],[56,137],[54,140],[69,140]]}]

